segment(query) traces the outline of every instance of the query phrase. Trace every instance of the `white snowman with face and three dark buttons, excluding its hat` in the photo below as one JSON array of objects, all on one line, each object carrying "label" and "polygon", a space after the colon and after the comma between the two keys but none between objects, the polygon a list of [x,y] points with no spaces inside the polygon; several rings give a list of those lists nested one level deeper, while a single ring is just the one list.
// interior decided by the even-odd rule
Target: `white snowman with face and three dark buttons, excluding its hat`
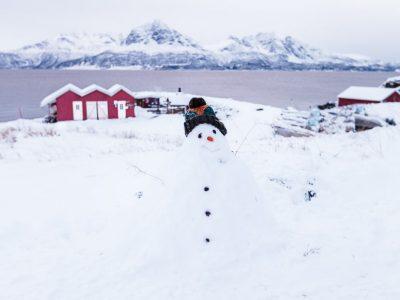
[{"label": "white snowman with face and three dark buttons, excluding its hat", "polygon": [[271,229],[265,200],[217,128],[202,124],[192,130],[169,179],[171,193],[158,222],[164,254],[189,260],[205,255],[210,261],[263,251]]}]

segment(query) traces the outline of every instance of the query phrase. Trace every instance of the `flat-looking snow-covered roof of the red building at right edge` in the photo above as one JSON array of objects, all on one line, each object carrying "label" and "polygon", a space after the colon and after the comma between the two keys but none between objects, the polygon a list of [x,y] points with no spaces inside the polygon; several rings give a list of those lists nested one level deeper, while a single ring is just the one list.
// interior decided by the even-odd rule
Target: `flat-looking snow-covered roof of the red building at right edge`
[{"label": "flat-looking snow-covered roof of the red building at right edge", "polygon": [[351,86],[340,93],[338,98],[381,102],[396,92],[396,89],[389,88]]}]

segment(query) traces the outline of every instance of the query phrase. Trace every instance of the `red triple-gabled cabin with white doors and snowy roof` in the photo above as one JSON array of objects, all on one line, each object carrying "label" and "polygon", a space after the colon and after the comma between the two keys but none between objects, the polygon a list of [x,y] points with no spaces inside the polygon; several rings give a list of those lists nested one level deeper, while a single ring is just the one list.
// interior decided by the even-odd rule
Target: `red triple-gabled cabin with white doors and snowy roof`
[{"label": "red triple-gabled cabin with white doors and snowy roof", "polygon": [[108,90],[95,84],[84,89],[67,84],[44,98],[40,106],[46,105],[57,121],[135,117],[134,94],[119,84]]}]

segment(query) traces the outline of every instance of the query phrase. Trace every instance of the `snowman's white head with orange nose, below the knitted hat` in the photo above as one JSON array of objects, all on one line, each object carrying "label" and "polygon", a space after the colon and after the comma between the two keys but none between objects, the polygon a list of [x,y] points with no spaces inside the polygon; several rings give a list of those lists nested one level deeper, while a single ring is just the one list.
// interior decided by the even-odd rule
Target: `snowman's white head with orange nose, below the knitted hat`
[{"label": "snowman's white head with orange nose, below the knitted hat", "polygon": [[192,145],[198,145],[210,152],[229,151],[225,136],[210,124],[196,126],[187,138]]}]

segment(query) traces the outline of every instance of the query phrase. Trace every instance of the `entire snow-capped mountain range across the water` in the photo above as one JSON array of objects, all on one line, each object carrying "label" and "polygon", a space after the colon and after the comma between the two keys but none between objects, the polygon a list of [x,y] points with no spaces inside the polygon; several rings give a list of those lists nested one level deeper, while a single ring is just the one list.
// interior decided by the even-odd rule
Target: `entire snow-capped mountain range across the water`
[{"label": "entire snow-capped mountain range across the water", "polygon": [[62,34],[0,52],[1,69],[131,68],[255,70],[387,70],[399,66],[365,57],[326,54],[296,39],[258,33],[231,36],[214,47],[154,21],[127,35]]}]

